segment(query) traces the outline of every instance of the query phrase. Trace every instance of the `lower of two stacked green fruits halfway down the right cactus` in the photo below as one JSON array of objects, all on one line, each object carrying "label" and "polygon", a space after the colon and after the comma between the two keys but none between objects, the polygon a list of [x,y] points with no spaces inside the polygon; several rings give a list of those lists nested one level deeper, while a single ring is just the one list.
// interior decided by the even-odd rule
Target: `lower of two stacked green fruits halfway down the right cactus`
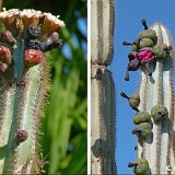
[{"label": "lower of two stacked green fruits halfway down the right cactus", "polygon": [[152,133],[152,126],[149,122],[141,122],[140,125],[137,125],[136,128],[132,130],[132,133],[136,133],[136,136],[141,140],[147,140],[151,133]]}]

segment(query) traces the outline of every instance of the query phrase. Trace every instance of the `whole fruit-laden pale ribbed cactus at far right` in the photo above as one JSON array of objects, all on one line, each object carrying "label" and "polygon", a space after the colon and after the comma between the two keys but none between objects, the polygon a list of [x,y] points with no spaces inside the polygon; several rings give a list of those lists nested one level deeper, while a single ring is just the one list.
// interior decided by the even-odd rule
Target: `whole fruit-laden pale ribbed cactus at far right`
[{"label": "whole fruit-laden pale ribbed cactus at far right", "polygon": [[[173,42],[161,23],[150,28],[145,20],[142,24],[144,31],[136,42],[124,42],[124,45],[132,45],[128,70],[137,70],[133,59],[139,60],[138,69],[141,68],[140,103],[137,103],[138,114],[133,117],[136,128],[132,130],[138,137],[138,161],[128,166],[140,175],[175,174]],[[149,62],[147,67],[142,65],[144,61]],[[121,96],[127,97],[124,93]],[[140,159],[147,162],[147,166],[141,168],[138,163]]]}]

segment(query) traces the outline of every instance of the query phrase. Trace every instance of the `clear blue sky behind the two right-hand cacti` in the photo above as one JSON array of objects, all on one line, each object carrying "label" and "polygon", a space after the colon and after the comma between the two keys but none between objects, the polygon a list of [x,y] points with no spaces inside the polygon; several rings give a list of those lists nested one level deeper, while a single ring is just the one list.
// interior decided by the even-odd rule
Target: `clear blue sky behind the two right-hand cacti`
[{"label": "clear blue sky behind the two right-hand cacti", "polygon": [[120,92],[125,91],[130,95],[138,91],[139,72],[130,72],[129,82],[124,80],[130,47],[122,46],[122,42],[132,42],[137,37],[143,30],[140,22],[142,19],[147,19],[148,25],[162,22],[175,38],[175,0],[117,0],[115,16],[115,52],[109,70],[113,72],[117,94],[117,172],[118,174],[132,174],[127,165],[137,158],[135,151],[137,138],[131,135],[132,117],[136,112],[129,107],[125,98],[120,97]]}]

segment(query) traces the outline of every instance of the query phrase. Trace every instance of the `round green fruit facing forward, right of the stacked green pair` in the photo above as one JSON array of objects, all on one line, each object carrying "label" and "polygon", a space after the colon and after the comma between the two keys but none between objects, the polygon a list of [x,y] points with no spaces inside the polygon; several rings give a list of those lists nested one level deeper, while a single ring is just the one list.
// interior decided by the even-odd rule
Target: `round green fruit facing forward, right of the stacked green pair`
[{"label": "round green fruit facing forward, right of the stacked green pair", "polygon": [[159,124],[168,117],[167,108],[163,105],[155,105],[151,109],[151,116],[155,124]]}]

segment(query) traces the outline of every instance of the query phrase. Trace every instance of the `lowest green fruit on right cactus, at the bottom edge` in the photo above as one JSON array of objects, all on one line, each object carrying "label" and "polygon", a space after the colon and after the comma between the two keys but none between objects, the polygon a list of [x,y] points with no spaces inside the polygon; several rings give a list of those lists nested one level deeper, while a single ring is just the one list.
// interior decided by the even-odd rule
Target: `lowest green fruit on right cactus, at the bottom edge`
[{"label": "lowest green fruit on right cactus, at the bottom edge", "polygon": [[145,175],[149,171],[149,163],[144,158],[139,158],[136,163],[137,166],[132,167],[132,171],[136,175]]}]

